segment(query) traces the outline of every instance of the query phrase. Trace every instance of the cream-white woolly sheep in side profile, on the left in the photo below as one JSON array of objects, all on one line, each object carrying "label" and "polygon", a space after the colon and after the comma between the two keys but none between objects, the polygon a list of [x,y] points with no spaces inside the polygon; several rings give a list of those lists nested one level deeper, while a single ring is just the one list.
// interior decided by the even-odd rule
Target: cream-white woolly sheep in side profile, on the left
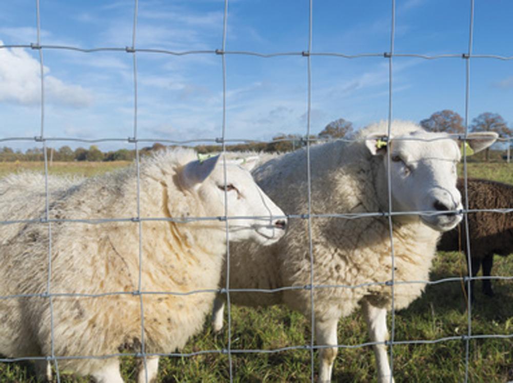
[{"label": "cream-white woolly sheep in side profile, on the left", "polygon": [[[51,223],[50,292],[72,294],[54,295],[51,305],[45,296],[48,224],[22,224],[9,237],[2,231],[0,295],[33,295],[0,300],[1,354],[42,356],[51,355],[53,349],[54,355],[64,357],[58,359],[60,368],[91,374],[98,382],[115,383],[123,381],[118,358],[101,356],[123,348],[141,350],[141,299],[147,353],[180,349],[202,328],[221,278],[226,222],[166,219],[222,217],[226,198],[227,214],[235,217],[228,221],[229,240],[252,239],[262,245],[272,244],[283,235],[286,220],[274,218],[283,216],[282,210],[255,184],[248,169],[227,161],[225,183],[224,160],[218,162],[216,156],[199,161],[195,156],[192,150],[182,149],[141,160],[141,233],[139,222],[131,220],[137,217],[135,166],[86,180],[65,192],[49,187],[49,218],[77,220]],[[251,164],[246,162],[245,166]],[[44,217],[41,186],[36,192],[40,197],[32,201],[40,210],[14,212],[16,202],[19,207],[31,204],[26,198],[31,195],[23,194],[27,178],[0,180],[0,193],[12,197],[0,203],[1,220]],[[16,185],[21,185],[17,191]],[[13,197],[16,193],[18,199]],[[109,221],[112,218],[125,221]],[[157,220],[144,220],[147,218]],[[139,295],[139,289],[152,293]],[[196,290],[210,291],[166,294]],[[146,380],[146,373],[148,380],[154,378],[157,365],[158,358],[148,358],[146,372],[140,369],[139,381]]]}]

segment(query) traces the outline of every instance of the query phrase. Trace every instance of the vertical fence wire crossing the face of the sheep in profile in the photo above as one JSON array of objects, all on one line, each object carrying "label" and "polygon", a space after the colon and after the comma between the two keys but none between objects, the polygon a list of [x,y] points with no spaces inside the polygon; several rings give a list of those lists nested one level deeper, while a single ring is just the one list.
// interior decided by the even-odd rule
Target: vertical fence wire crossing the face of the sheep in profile
[{"label": "vertical fence wire crossing the face of the sheep in profile", "polygon": [[224,215],[225,215],[225,230],[226,230],[226,308],[228,311],[228,340],[225,353],[228,355],[228,371],[230,374],[230,383],[233,381],[233,360],[231,355],[231,302],[230,302],[230,224],[228,222],[228,188],[227,173],[226,173],[226,36],[228,26],[228,0],[224,1],[223,12],[223,41],[221,53],[221,63],[223,71],[223,120],[222,120],[222,153],[223,153],[223,177],[224,177]]}]

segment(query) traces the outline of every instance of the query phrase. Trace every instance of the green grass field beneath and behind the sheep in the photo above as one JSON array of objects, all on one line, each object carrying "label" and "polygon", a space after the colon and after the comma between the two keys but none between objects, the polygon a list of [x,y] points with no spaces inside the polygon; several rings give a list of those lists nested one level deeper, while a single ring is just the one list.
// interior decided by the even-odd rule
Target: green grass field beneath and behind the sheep
[{"label": "green grass field beneath and behind the sheep", "polygon": [[[123,163],[54,163],[50,172],[90,176],[126,165]],[[0,175],[42,169],[41,163],[0,163]],[[513,183],[513,164],[469,163],[470,177]],[[466,273],[462,254],[440,252],[430,279],[439,280]],[[513,257],[496,257],[494,275],[513,275]],[[471,310],[472,334],[513,334],[512,281],[493,281],[496,295],[481,293],[476,282],[476,305]],[[231,348],[233,350],[275,350],[302,346],[310,342],[310,325],[305,317],[277,306],[248,309],[232,306]],[[390,324],[389,324],[390,326]],[[460,282],[427,286],[425,293],[395,316],[395,341],[433,341],[447,336],[467,334],[467,308]],[[227,347],[226,327],[213,334],[206,324],[204,331],[188,343],[183,352],[223,350]],[[359,313],[339,323],[339,344],[358,345],[368,342],[365,321]],[[135,360],[123,359],[126,381],[135,381]],[[396,345],[393,347],[396,382],[459,382],[465,376],[465,342],[461,339],[434,344]],[[272,353],[232,355],[233,380],[236,382],[303,382],[310,379],[310,352],[291,350]],[[318,370],[315,360],[315,372]],[[228,356],[220,352],[192,357],[168,357],[161,360],[159,382],[221,382],[229,380]],[[506,382],[513,380],[513,338],[473,339],[469,349],[469,381]],[[0,364],[0,381],[36,381],[28,363]],[[87,382],[62,374],[61,381]],[[333,370],[333,381],[376,381],[374,356],[370,347],[341,348]]]}]

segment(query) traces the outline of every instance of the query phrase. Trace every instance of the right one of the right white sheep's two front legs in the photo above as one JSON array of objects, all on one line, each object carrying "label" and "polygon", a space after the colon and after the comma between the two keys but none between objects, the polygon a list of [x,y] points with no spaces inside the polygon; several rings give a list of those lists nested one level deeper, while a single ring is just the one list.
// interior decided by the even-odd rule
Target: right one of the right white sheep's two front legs
[{"label": "right one of the right white sheep's two front legs", "polygon": [[376,364],[378,369],[378,381],[380,383],[393,382],[393,377],[388,364],[388,354],[385,341],[388,340],[388,330],[386,327],[386,309],[372,306],[369,302],[363,301],[362,305],[365,321],[371,342],[378,342],[373,345],[374,355],[376,355]]}]

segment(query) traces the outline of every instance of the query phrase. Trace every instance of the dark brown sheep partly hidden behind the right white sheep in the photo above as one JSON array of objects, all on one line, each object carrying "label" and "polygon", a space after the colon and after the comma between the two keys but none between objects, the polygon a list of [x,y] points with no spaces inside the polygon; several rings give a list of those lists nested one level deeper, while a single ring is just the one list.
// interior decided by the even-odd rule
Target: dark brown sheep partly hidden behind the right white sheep
[{"label": "dark brown sheep partly hidden behind the right white sheep", "polygon": [[[465,191],[463,179],[458,180],[458,189],[463,199]],[[463,202],[465,206],[465,202]],[[502,209],[513,208],[513,185],[481,179],[468,179],[468,208]],[[472,276],[476,276],[481,265],[483,276],[490,276],[494,254],[508,256],[513,253],[513,214],[502,212],[469,212],[468,230],[470,233],[470,254]],[[442,236],[438,250],[466,252],[464,221]],[[468,262],[468,261],[467,261]],[[470,283],[473,300],[473,282]],[[483,293],[494,295],[491,281],[483,279]]]}]

